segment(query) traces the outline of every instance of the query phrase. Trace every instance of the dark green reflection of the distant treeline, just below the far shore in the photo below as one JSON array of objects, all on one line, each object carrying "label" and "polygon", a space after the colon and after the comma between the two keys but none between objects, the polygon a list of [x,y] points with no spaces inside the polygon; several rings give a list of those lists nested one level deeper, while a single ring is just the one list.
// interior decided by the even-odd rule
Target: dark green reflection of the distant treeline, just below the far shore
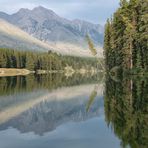
[{"label": "dark green reflection of the distant treeline, just below the far shore", "polygon": [[[102,80],[102,75],[74,74],[66,77],[63,73],[50,73],[48,75],[27,75],[14,77],[0,77],[0,95],[10,95],[20,92],[31,92],[33,90],[53,90],[60,87],[76,86],[80,84],[94,84]],[[99,78],[99,80],[98,80]]]}]

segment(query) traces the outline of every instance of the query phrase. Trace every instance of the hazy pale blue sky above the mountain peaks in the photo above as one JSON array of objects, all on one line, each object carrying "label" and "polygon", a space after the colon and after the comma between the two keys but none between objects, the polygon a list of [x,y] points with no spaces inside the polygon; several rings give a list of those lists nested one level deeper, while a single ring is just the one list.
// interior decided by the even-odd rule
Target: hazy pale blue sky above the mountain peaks
[{"label": "hazy pale blue sky above the mountain peaks", "polygon": [[67,19],[104,24],[118,8],[119,0],[0,0],[0,11],[11,14],[20,8],[32,9],[39,5]]}]

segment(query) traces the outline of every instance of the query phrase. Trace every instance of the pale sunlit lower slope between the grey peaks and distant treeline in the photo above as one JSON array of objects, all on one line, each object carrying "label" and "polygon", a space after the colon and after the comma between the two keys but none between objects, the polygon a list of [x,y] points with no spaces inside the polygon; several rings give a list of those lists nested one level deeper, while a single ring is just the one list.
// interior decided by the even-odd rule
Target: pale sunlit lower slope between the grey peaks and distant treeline
[{"label": "pale sunlit lower slope between the grey peaks and distant treeline", "polygon": [[[67,44],[68,45],[68,44]],[[75,47],[69,44],[69,49],[60,44],[60,48],[40,41],[29,35],[20,28],[0,19],[0,48],[10,48],[17,50],[48,52],[49,50],[63,55],[90,56],[89,50]],[[61,50],[62,49],[62,50]]]}]

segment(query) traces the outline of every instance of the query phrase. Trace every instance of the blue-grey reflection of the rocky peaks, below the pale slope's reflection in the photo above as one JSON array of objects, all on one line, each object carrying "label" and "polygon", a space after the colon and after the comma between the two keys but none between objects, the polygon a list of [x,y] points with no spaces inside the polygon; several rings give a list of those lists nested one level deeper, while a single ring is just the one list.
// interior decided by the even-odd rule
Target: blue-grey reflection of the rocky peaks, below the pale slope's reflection
[{"label": "blue-grey reflection of the rocky peaks, below the pale slope's reflection", "polygon": [[86,111],[87,100],[81,99],[83,99],[82,103],[80,103],[78,98],[61,102],[41,102],[7,122],[0,124],[0,131],[13,127],[21,133],[34,132],[37,135],[44,135],[68,122],[78,123],[103,114],[103,99],[95,100],[89,112]]}]

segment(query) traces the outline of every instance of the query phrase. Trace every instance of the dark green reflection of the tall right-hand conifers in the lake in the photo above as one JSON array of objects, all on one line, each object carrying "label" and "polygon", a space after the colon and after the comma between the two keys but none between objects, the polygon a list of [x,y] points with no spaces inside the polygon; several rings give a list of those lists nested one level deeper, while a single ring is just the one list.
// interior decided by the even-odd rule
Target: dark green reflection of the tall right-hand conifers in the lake
[{"label": "dark green reflection of the tall right-hand conifers in the lake", "polygon": [[148,78],[106,80],[105,116],[123,148],[148,147]]}]

